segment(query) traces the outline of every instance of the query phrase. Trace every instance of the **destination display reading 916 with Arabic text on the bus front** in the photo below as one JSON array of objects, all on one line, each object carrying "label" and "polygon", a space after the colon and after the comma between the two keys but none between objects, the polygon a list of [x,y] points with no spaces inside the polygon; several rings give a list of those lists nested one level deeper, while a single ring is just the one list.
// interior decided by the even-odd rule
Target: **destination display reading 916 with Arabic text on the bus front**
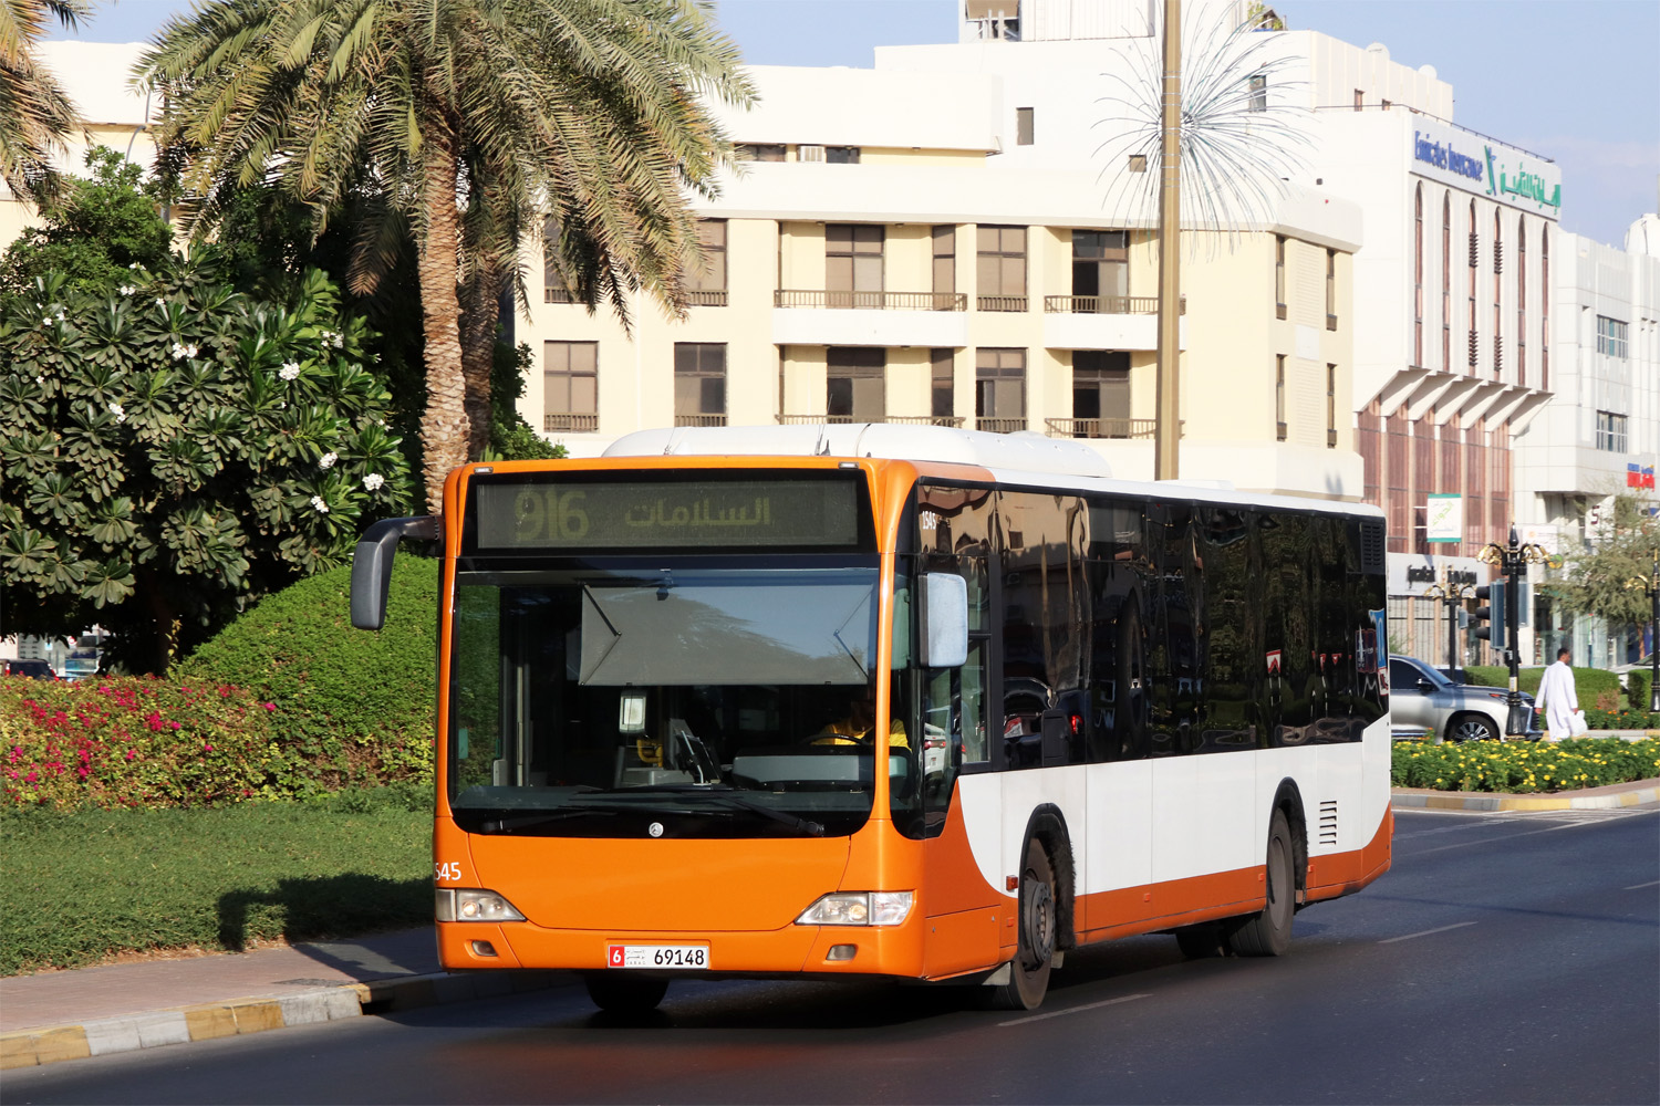
[{"label": "destination display reading 916 with Arabic text on the bus front", "polygon": [[852,481],[508,483],[475,488],[480,549],[858,544]]}]

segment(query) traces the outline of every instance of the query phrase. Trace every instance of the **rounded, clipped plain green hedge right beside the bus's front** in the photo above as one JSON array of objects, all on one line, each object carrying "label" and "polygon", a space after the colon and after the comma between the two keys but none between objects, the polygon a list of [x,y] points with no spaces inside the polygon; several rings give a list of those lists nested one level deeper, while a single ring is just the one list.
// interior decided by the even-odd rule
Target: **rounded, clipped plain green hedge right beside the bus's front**
[{"label": "rounded, clipped plain green hedge right beside the bus's front", "polygon": [[350,622],[352,569],[261,600],[186,658],[181,678],[257,690],[284,711],[284,738],[370,776],[432,776],[438,562],[393,560],[387,628]]}]

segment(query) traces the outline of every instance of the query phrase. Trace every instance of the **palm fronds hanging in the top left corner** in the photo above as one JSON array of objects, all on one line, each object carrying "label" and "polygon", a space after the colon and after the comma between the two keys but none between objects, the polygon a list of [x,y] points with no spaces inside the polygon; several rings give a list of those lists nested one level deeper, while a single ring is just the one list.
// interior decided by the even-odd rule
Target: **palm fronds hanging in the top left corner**
[{"label": "palm fronds hanging in the top left corner", "polygon": [[56,78],[37,61],[35,43],[48,18],[73,30],[86,10],[86,0],[0,0],[0,179],[35,204],[58,197],[51,156],[66,151],[63,139],[80,123]]}]

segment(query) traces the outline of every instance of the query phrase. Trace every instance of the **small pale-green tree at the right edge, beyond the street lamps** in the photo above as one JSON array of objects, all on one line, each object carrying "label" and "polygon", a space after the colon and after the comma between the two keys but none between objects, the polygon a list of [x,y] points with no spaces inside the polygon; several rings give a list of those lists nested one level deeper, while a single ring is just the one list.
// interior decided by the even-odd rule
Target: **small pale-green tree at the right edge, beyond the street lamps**
[{"label": "small pale-green tree at the right edge, beyond the street lamps", "polygon": [[1605,618],[1614,627],[1648,622],[1652,604],[1642,584],[1650,580],[1660,549],[1660,517],[1652,504],[1628,492],[1614,496],[1589,549],[1570,549],[1562,569],[1545,580],[1547,594],[1574,612]]}]

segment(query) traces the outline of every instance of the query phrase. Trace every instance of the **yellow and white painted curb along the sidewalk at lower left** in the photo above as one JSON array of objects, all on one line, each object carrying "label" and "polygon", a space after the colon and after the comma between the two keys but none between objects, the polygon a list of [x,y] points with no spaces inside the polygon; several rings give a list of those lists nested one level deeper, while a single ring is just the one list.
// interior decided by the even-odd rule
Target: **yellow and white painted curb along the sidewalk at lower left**
[{"label": "yellow and white painted curb along the sidewalk at lower left", "polygon": [[0,1071],[139,1048],[159,1048],[161,1045],[208,1041],[217,1036],[262,1033],[290,1025],[395,1013],[471,998],[501,998],[558,987],[573,978],[569,972],[435,972],[372,983],[320,987],[281,998],[232,998],[105,1018],[85,1025],[15,1030],[0,1033]]}]

